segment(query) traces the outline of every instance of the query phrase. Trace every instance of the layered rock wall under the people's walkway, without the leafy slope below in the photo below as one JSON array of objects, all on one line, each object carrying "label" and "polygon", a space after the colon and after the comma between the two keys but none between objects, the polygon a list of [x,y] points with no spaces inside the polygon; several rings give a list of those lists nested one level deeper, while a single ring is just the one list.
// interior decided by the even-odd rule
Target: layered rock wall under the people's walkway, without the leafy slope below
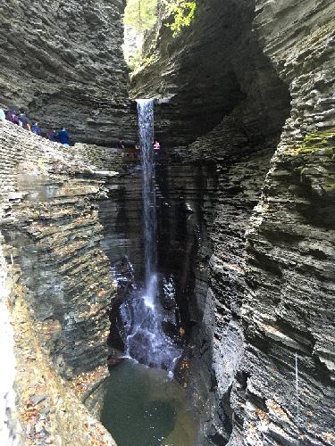
[{"label": "layered rock wall under the people's walkway, without the leafy slope below", "polygon": [[[35,157],[13,169],[15,192],[8,195],[2,221],[7,255],[24,270],[21,285],[27,286],[34,317],[59,326],[50,345],[54,361],[70,368],[70,376],[96,368],[106,357],[113,293],[94,204],[101,181],[72,178],[75,166],[58,145],[7,122],[0,125],[4,159],[17,152]],[[57,150],[58,160],[52,158]]]}]

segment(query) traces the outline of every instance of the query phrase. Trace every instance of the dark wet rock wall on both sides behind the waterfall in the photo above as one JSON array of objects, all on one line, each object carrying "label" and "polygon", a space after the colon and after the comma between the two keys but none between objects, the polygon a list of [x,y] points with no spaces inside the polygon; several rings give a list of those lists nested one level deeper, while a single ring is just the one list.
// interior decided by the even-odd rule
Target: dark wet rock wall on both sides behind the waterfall
[{"label": "dark wet rock wall on both sides behind the waterfall", "polygon": [[[216,171],[181,160],[157,161],[157,249],[160,301],[166,310],[163,331],[181,347],[193,343],[198,320],[193,263],[212,220]],[[111,345],[123,350],[120,306],[143,283],[141,172],[136,166],[107,185],[109,199],[99,202],[105,227],[102,246],[113,265],[118,297],[111,313]],[[186,356],[193,356],[187,351]],[[116,359],[118,360],[118,359]],[[111,358],[113,363],[114,358]],[[182,374],[181,374],[182,375]],[[180,376],[181,376],[180,375]]]}]

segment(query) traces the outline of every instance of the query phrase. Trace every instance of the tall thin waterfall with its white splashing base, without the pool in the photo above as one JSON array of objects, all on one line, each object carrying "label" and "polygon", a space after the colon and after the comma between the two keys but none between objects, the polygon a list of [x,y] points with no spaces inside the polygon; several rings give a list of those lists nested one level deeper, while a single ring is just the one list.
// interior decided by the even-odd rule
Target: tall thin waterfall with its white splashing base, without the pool
[{"label": "tall thin waterfall with its white splashing base, without the pool", "polygon": [[[159,299],[157,273],[157,223],[154,160],[154,102],[138,100],[138,130],[143,174],[144,286],[135,287],[121,305],[126,353],[132,359],[153,368],[165,368],[171,374],[180,358],[180,348],[164,333],[168,317]],[[161,281],[163,283],[163,278]]]}]

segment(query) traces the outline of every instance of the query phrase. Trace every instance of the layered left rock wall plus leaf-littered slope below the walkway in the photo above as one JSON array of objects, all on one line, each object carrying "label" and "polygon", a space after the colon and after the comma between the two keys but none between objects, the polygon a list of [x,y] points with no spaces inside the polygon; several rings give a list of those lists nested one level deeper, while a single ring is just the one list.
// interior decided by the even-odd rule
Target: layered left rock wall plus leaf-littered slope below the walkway
[{"label": "layered left rock wall plus leaf-littered slope below the walkway", "polygon": [[[108,310],[114,286],[110,263],[100,248],[103,233],[96,204],[105,194],[101,175],[107,173],[95,173],[78,156],[63,153],[60,145],[18,126],[4,121],[0,126],[1,229],[21,364],[16,386],[21,420],[31,437],[38,433],[27,425],[29,404],[24,398],[31,394],[24,389],[37,392],[41,380],[46,381],[43,376],[38,381],[43,370],[50,378],[44,384],[50,404],[62,397],[57,388],[69,385],[62,384],[61,376],[71,380],[77,395],[86,400],[92,386],[107,375]],[[35,372],[29,373],[35,360],[37,384]],[[68,397],[63,401],[68,407]],[[73,404],[80,406],[79,401]],[[77,423],[83,425],[85,417],[88,422],[82,408]],[[60,424],[69,422],[75,429],[75,418]],[[86,431],[83,426],[78,444],[88,441]],[[56,426],[54,434],[60,436],[59,444],[66,444],[66,435]]]}]

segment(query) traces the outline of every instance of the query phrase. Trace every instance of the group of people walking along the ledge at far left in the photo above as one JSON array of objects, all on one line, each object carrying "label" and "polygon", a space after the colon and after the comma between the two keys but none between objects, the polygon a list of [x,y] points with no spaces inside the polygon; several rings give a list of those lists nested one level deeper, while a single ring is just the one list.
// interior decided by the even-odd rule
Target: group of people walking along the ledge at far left
[{"label": "group of people walking along the ledge at far left", "polygon": [[66,128],[62,128],[58,132],[56,132],[54,128],[49,128],[46,134],[42,135],[38,121],[30,121],[23,109],[20,109],[19,113],[16,113],[13,108],[10,108],[8,111],[4,111],[0,108],[0,120],[8,120],[15,125],[21,126],[21,128],[25,128],[35,135],[45,136],[46,139],[53,141],[54,143],[58,142],[65,146],[70,145],[70,135]]}]

